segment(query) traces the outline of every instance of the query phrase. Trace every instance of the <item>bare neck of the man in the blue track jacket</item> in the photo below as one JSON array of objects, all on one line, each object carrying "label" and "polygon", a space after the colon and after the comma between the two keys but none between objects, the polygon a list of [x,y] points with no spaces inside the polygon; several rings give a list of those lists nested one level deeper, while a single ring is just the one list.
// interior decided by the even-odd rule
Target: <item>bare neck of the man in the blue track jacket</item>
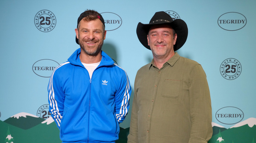
[{"label": "bare neck of the man in the blue track jacket", "polygon": [[102,56],[101,56],[101,52],[99,52],[96,56],[90,56],[81,51],[79,58],[82,63],[92,64],[92,63],[100,62]]}]

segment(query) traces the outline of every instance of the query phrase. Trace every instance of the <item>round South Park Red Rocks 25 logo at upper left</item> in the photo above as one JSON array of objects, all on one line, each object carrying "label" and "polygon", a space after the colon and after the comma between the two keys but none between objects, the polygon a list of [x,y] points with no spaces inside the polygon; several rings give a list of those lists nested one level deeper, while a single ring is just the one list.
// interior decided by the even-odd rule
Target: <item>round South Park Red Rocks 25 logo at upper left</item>
[{"label": "round South Park Red Rocks 25 logo at upper left", "polygon": [[49,10],[41,10],[35,15],[35,26],[42,32],[52,31],[56,25],[56,17]]}]

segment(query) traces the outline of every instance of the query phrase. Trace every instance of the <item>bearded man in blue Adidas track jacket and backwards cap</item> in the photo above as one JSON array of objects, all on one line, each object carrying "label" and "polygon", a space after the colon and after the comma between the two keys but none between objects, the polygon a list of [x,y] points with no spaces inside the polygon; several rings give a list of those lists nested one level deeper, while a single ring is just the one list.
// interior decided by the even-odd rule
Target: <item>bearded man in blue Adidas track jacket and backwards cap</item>
[{"label": "bearded man in blue Adidas track jacket and backwards cap", "polygon": [[98,12],[83,12],[75,33],[80,48],[52,73],[49,111],[63,143],[114,143],[129,109],[128,76],[101,51],[106,30]]}]

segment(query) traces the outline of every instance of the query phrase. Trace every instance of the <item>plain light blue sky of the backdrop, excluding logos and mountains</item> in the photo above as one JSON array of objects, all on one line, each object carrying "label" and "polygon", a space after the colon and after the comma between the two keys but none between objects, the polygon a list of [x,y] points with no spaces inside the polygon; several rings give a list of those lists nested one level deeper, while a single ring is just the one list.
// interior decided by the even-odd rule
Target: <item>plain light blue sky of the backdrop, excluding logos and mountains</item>
[{"label": "plain light blue sky of the backdrop, excluding logos and mountains", "polygon": [[[126,70],[132,89],[137,70],[153,58],[137,38],[137,24],[148,24],[157,11],[175,11],[188,25],[188,39],[177,52],[202,64],[211,93],[213,122],[225,128],[234,125],[227,124],[232,121],[221,123],[215,117],[219,109],[227,106],[239,108],[244,114],[242,121],[256,118],[255,6],[255,0],[1,0],[0,120],[21,112],[36,115],[41,105],[48,104],[49,78],[35,74],[32,66],[42,59],[63,63],[79,48],[75,28],[78,16],[86,9],[111,12],[113,18],[121,18],[119,28],[107,31],[102,50]],[[37,12],[44,9],[56,18],[50,32],[41,32],[34,23]],[[218,19],[227,12],[244,15],[247,23],[239,30],[224,30]],[[222,62],[228,58],[237,59],[242,66],[234,80],[220,73]],[[130,111],[120,124],[123,128],[130,125]]]}]

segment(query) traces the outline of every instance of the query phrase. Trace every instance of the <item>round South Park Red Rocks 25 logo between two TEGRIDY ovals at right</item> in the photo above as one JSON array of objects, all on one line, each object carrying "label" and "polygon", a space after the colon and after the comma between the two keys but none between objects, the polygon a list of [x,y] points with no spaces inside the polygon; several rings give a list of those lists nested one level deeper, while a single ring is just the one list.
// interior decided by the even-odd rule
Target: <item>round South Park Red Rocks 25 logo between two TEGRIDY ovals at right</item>
[{"label": "round South Park Red Rocks 25 logo between two TEGRIDY ovals at right", "polygon": [[221,63],[221,75],[228,80],[236,79],[242,71],[242,66],[237,59],[228,58]]}]

